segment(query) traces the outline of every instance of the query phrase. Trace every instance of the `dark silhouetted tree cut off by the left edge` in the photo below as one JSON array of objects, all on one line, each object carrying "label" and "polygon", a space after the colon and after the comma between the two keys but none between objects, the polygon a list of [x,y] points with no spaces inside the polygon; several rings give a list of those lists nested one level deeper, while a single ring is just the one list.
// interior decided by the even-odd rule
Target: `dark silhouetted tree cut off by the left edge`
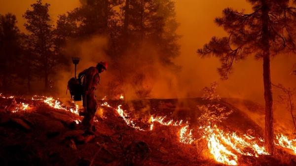
[{"label": "dark silhouetted tree cut off by the left edge", "polygon": [[0,15],[0,79],[1,91],[9,90],[15,80],[17,61],[21,54],[20,32],[15,15]]}]

